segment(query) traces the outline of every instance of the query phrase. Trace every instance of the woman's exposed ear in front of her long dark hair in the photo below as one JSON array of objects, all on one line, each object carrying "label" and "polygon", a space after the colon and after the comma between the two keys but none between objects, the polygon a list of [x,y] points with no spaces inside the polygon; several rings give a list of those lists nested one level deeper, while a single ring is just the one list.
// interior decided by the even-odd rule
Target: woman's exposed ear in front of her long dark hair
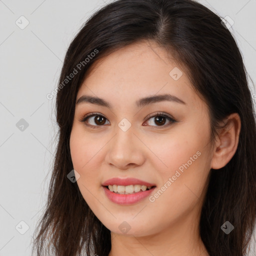
[{"label": "woman's exposed ear in front of her long dark hair", "polygon": [[238,113],[232,113],[224,120],[225,126],[222,127],[217,135],[211,168],[219,169],[225,166],[233,157],[239,140],[241,120]]}]

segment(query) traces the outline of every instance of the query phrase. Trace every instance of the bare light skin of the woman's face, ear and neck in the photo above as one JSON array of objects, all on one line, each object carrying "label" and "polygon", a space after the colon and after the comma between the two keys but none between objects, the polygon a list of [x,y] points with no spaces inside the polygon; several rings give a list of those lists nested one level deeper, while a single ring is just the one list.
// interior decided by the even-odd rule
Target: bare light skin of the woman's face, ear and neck
[{"label": "bare light skin of the woman's face, ear and neck", "polygon": [[[183,72],[177,80],[169,75],[174,67]],[[164,93],[185,104],[161,101],[135,105],[141,97]],[[210,168],[221,168],[235,153],[239,115],[234,113],[224,120],[228,127],[219,131],[210,148],[206,104],[193,90],[185,70],[152,41],[125,46],[94,62],[76,99],[84,94],[112,105],[109,109],[88,102],[77,104],[70,134],[72,163],[80,175],[77,185],[91,210],[111,231],[109,256],[209,255],[199,236],[201,204]],[[154,117],[147,117],[157,111],[177,122],[166,118],[160,125]],[[80,121],[91,112],[106,118],[101,126],[95,123],[96,116],[87,119],[95,128]],[[118,126],[123,118],[131,124],[127,131]],[[179,171],[181,174],[153,202],[146,197],[119,205],[106,197],[101,186],[111,177],[136,177],[156,184],[157,191],[197,151],[197,159],[183,173]],[[126,233],[118,228],[123,221],[130,226]]]}]

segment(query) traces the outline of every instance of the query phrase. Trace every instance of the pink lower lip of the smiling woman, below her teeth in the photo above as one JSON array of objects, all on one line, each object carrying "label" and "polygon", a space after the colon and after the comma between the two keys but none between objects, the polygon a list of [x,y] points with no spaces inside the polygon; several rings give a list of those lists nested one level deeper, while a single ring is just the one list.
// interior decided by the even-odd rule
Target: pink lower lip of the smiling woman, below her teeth
[{"label": "pink lower lip of the smiling woman, below her teeth", "polygon": [[147,197],[154,190],[154,188],[155,187],[149,190],[139,191],[132,194],[118,194],[118,193],[111,192],[108,188],[103,186],[104,192],[110,201],[117,204],[123,204],[123,205],[136,203],[142,200],[143,198]]}]

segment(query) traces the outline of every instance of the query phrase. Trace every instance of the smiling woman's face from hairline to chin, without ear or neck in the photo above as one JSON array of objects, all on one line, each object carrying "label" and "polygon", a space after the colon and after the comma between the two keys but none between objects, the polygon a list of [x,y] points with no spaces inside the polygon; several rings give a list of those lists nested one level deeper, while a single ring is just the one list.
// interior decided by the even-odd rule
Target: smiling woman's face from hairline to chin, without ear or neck
[{"label": "smiling woman's face from hairline to chin, without ear or neck", "polygon": [[[76,100],[98,97],[109,106],[85,98],[75,106],[70,153],[84,200],[118,234],[145,236],[197,223],[211,168],[210,126],[185,71],[154,42],[125,46],[90,70]],[[120,185],[115,193],[103,186],[111,178],[142,181],[113,180]],[[153,186],[142,191],[137,185],[146,182]]]}]

